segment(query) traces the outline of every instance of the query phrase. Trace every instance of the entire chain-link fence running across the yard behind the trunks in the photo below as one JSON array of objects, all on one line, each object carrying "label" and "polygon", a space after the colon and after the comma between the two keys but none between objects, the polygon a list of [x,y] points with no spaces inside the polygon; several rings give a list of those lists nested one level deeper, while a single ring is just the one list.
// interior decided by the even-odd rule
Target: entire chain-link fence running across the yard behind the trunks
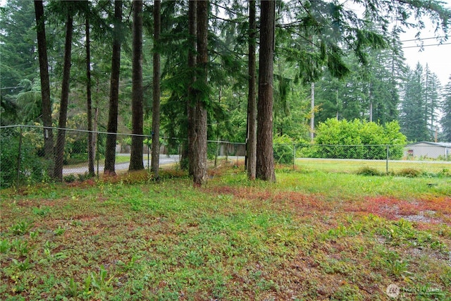
[{"label": "entire chain-link fence running across the yard behind the trunks", "polygon": [[[8,125],[0,127],[0,185],[8,187],[21,183],[37,183],[51,180],[47,174],[49,161],[44,159],[44,128],[36,125]],[[49,130],[49,128],[47,128]],[[51,128],[64,130],[63,179],[75,180],[87,176],[88,130]],[[94,134],[95,173],[104,172],[107,135],[116,135],[115,170],[127,171],[130,163],[131,140],[140,136],[143,140],[142,160],[145,168],[151,166],[152,135],[129,133]],[[54,135],[55,137],[56,135]],[[56,142],[56,139],[55,139]],[[161,137],[160,165],[180,164],[181,152],[186,139]],[[373,168],[380,173],[397,172],[410,168],[426,173],[450,174],[451,145],[314,145],[274,144],[274,160],[289,168],[320,171],[357,171]],[[218,160],[244,162],[246,143],[208,141],[207,156],[211,165]],[[244,166],[244,164],[243,164]]]}]

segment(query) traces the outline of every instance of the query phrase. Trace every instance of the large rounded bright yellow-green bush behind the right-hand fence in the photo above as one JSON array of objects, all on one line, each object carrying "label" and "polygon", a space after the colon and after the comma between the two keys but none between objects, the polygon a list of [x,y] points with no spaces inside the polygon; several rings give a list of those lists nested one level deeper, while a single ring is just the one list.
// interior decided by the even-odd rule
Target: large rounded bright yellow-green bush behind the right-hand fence
[{"label": "large rounded bright yellow-green bush behind the right-hand fence", "polygon": [[[367,121],[328,119],[316,130],[311,156],[335,159],[400,159],[406,137],[396,121],[379,125]],[[387,150],[387,145],[390,145]]]}]

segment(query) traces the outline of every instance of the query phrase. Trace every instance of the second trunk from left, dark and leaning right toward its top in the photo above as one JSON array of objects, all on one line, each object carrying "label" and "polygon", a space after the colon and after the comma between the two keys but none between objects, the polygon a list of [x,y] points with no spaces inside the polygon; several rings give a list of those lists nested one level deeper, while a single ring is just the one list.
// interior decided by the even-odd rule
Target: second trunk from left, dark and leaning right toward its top
[{"label": "second trunk from left, dark and leaning right toward its top", "polygon": [[70,52],[72,51],[73,18],[68,11],[66,20],[66,41],[64,43],[63,82],[61,85],[61,103],[58,118],[58,135],[56,137],[55,173],[58,180],[63,180],[64,143],[66,139],[66,119],[70,90]]}]

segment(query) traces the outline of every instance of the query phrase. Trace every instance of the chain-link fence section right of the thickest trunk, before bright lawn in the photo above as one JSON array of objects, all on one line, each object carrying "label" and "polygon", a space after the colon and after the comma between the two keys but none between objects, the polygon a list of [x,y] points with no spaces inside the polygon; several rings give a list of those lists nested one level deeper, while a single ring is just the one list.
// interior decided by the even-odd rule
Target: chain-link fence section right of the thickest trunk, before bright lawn
[{"label": "chain-link fence section right of the thickest trunk, before bright lawn", "polygon": [[273,146],[277,164],[307,171],[361,172],[419,176],[451,174],[451,143],[411,145],[302,145]]}]

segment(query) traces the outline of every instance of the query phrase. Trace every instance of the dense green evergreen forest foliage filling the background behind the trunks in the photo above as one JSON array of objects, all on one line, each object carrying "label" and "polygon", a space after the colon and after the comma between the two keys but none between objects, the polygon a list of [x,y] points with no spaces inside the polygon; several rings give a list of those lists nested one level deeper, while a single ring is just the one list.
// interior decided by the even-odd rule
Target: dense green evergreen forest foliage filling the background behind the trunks
[{"label": "dense green evergreen forest foliage filling the background behind the trunks", "polygon": [[[208,117],[203,118],[207,118],[209,140],[245,142],[249,137],[248,46],[254,41],[256,50],[261,50],[261,38],[266,37],[261,35],[257,39],[261,25],[266,24],[261,20],[263,14],[259,18],[263,11],[260,3],[254,11],[256,20],[252,30],[249,4],[255,1],[208,2],[208,59],[203,65],[208,68],[208,75],[197,70],[198,78],[205,77],[204,82],[197,80],[193,85],[188,56],[197,51],[199,60],[201,53],[199,39],[194,46],[192,43],[187,1],[35,2],[41,2],[45,8],[42,23],[36,21],[33,1],[6,1],[1,8],[1,125],[49,125],[49,121],[46,125],[43,120],[46,114],[37,45],[37,32],[43,24],[47,34],[51,125],[112,133],[111,83],[113,75],[118,75],[117,133],[137,133],[133,123],[137,120],[133,118],[133,99],[136,99],[133,83],[140,80],[142,112],[138,115],[142,116],[142,125],[137,126],[143,134],[155,133],[154,80],[159,78],[160,137],[190,136],[187,133],[190,106],[186,106],[190,89],[198,92],[197,97],[208,112]],[[121,18],[118,18],[118,3]],[[155,9],[157,3],[161,7]],[[137,13],[137,4],[142,4],[142,13]],[[378,1],[366,1],[362,4],[366,5],[362,16],[335,2],[274,1],[273,4],[274,140],[308,143],[314,129],[335,118],[380,125],[398,123],[409,142],[451,141],[451,81],[440,82],[427,65],[407,66],[400,40],[400,33],[406,28],[421,30],[424,26],[421,18],[431,18],[438,39],[445,41],[450,13],[440,3],[433,1],[428,6],[421,2],[404,7],[394,1],[392,7],[383,7],[378,6]],[[393,14],[394,23],[388,17],[393,10],[397,11]],[[158,39],[155,38],[156,11],[161,14]],[[412,17],[416,22],[412,23]],[[134,56],[138,18],[142,19],[141,63]],[[199,35],[199,20],[197,25]],[[112,70],[114,55],[111,56],[115,42],[121,49],[120,68],[116,71]],[[154,73],[155,54],[161,56],[160,73]],[[134,72],[137,66],[134,63],[140,64],[140,75]],[[61,105],[67,107],[66,116],[61,114]],[[121,143],[133,144],[132,141]],[[142,145],[142,141],[138,144]]]}]

